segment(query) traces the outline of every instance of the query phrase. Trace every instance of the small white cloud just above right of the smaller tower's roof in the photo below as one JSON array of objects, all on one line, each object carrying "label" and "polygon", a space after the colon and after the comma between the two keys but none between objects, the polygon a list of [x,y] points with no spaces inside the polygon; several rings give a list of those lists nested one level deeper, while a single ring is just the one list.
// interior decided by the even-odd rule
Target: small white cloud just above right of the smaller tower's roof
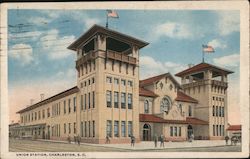
[{"label": "small white cloud just above right of the smaller tower's roof", "polygon": [[214,58],[213,62],[220,66],[236,67],[239,65],[240,55],[236,53],[219,58]]}]

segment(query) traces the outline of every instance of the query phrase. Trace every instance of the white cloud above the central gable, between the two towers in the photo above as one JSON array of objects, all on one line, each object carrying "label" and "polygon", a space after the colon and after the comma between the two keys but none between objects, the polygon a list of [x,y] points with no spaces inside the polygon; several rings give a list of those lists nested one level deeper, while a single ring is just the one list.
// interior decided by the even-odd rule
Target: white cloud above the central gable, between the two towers
[{"label": "white cloud above the central gable, between the two towers", "polygon": [[172,75],[187,68],[186,66],[170,61],[157,61],[150,56],[140,57],[140,79],[170,72]]}]

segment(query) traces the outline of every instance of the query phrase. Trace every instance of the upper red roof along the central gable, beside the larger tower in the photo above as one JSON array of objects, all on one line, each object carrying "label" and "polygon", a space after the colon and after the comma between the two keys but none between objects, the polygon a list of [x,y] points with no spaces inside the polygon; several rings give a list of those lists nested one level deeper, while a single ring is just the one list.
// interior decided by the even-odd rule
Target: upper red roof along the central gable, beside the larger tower
[{"label": "upper red roof along the central gable, beside the larger tower", "polygon": [[154,82],[157,82],[161,80],[163,77],[169,77],[172,79],[172,81],[180,88],[180,84],[174,79],[174,77],[170,73],[164,73],[158,76],[150,77],[144,80],[140,80],[140,86],[147,86],[150,84],[153,84]]}]

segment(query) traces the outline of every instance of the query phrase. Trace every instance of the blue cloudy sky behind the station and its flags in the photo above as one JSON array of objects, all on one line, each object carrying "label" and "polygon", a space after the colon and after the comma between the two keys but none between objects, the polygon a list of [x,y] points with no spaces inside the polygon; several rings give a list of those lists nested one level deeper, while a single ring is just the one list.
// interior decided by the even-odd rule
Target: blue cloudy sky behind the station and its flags
[{"label": "blue cloudy sky behind the station and its flags", "polygon": [[[239,100],[231,90],[239,90],[239,11],[116,11],[119,19],[109,19],[110,29],[150,43],[140,51],[141,79],[164,72],[175,74],[190,63],[198,64],[202,44],[212,45],[215,53],[206,54],[205,61],[235,72],[229,78],[229,96],[234,97],[229,104],[235,112]],[[105,23],[105,10],[8,10],[10,98],[17,88],[33,91],[30,98],[38,99],[42,91],[48,97],[74,86],[75,53],[67,46],[93,24]],[[41,84],[48,89],[39,87]],[[27,105],[29,99],[21,103]]]}]

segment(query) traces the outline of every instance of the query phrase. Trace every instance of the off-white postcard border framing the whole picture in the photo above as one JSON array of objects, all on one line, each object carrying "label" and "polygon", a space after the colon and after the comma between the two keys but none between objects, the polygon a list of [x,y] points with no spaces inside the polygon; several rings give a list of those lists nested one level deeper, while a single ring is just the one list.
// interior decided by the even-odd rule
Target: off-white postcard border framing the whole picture
[{"label": "off-white postcard border framing the whole picture", "polygon": [[[171,9],[171,10],[240,10],[240,110],[242,152],[87,152],[88,158],[238,158],[249,156],[249,4],[247,1],[182,1],[182,2],[68,2],[1,4],[1,26],[7,26],[7,9]],[[7,28],[1,28],[1,44],[7,44]],[[0,47],[1,157],[16,158],[8,152],[7,45]],[[29,157],[34,158],[34,157]]]}]

